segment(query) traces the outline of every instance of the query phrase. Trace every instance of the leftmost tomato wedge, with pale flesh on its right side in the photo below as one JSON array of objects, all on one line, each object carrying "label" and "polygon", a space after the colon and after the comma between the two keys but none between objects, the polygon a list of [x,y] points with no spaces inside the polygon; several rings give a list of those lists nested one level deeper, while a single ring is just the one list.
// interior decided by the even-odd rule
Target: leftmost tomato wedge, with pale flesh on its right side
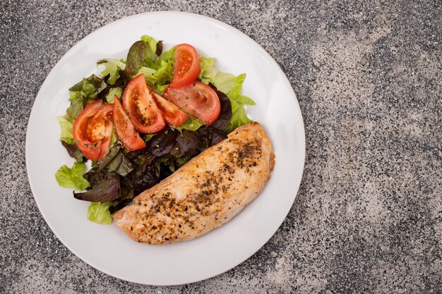
[{"label": "leftmost tomato wedge, with pale flesh on its right side", "polygon": [[109,151],[112,137],[112,112],[109,104],[98,99],[78,114],[73,123],[73,140],[86,158],[100,161]]}]

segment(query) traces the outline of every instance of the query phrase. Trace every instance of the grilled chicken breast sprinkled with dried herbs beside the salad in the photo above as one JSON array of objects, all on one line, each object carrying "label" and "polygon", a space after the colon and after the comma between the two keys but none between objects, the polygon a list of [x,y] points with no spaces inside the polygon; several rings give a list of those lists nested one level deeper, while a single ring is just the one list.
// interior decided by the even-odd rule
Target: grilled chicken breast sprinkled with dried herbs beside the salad
[{"label": "grilled chicken breast sprinkled with dried herbs beside the salad", "polygon": [[150,244],[197,238],[226,223],[255,199],[275,163],[259,123],[248,123],[114,214],[133,240]]}]

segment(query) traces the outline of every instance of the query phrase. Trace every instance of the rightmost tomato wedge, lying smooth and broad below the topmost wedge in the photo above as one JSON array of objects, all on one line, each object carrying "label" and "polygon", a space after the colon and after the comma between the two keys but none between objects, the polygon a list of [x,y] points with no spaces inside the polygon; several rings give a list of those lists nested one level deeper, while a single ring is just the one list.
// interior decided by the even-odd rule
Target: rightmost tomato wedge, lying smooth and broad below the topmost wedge
[{"label": "rightmost tomato wedge, lying smooth and broad below the topmost wedge", "polygon": [[205,125],[215,123],[220,116],[220,99],[215,90],[203,82],[196,81],[181,88],[168,86],[164,97]]}]

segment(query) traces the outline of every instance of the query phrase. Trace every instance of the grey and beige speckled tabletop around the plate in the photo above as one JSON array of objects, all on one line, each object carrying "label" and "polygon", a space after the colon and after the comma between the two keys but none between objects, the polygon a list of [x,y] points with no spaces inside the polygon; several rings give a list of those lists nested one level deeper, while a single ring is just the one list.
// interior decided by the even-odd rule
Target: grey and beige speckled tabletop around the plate
[{"label": "grey and beige speckled tabletop around the plate", "polygon": [[442,293],[441,1],[73,2],[0,4],[0,293],[159,289],[61,245],[24,157],[32,102],[61,56],[102,25],[157,10],[255,39],[292,83],[306,128],[304,178],[273,238],[239,267],[164,293]]}]

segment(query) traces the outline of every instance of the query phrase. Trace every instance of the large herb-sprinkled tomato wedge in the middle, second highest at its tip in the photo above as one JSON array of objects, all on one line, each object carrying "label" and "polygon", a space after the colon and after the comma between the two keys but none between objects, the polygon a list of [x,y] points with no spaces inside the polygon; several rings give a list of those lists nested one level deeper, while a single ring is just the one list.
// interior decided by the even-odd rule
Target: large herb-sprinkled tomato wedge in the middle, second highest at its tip
[{"label": "large herb-sprinkled tomato wedge in the middle, second highest at its tip", "polygon": [[138,132],[156,133],[166,126],[161,111],[148,90],[143,73],[127,84],[123,93],[123,106]]}]

